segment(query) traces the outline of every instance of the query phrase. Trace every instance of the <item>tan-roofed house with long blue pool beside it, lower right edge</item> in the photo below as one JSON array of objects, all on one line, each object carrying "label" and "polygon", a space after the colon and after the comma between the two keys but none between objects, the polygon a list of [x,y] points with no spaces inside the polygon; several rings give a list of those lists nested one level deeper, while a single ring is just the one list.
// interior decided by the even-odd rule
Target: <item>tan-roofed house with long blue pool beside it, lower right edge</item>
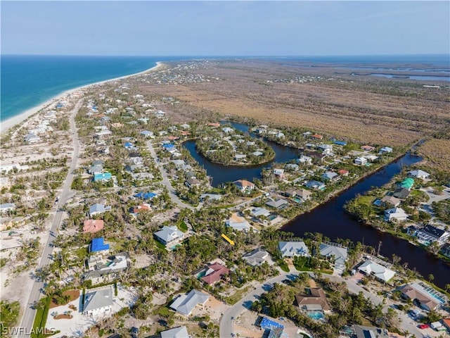
[{"label": "tan-roofed house with long blue pool beside it, lower right edge", "polygon": [[404,299],[415,301],[421,308],[427,311],[437,310],[448,301],[444,294],[437,292],[432,287],[423,283],[413,282],[406,284],[400,287],[399,290]]}]

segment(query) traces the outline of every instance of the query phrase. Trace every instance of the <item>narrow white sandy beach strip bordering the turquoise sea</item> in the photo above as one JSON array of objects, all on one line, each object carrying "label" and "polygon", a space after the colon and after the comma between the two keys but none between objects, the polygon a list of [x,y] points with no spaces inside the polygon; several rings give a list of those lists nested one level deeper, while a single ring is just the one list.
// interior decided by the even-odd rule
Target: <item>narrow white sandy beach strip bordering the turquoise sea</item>
[{"label": "narrow white sandy beach strip bordering the turquoise sea", "polygon": [[130,75],[124,75],[124,76],[120,76],[120,77],[114,77],[113,79],[93,82],[91,84],[84,84],[82,86],[79,86],[79,87],[76,87],[76,88],[72,88],[72,89],[68,89],[65,92],[61,92],[59,94],[56,94],[55,96],[51,97],[51,99],[48,99],[47,101],[45,101],[43,104],[39,104],[39,105],[34,106],[34,107],[30,108],[30,109],[27,109],[26,111],[24,111],[23,113],[20,113],[19,115],[15,115],[15,116],[12,116],[11,118],[8,118],[8,120],[1,121],[1,123],[0,123],[0,134],[3,136],[4,134],[6,134],[6,132],[8,132],[8,130],[11,130],[12,127],[15,127],[16,125],[19,125],[20,123],[23,123],[25,120],[27,120],[27,118],[30,118],[30,117],[32,117],[32,115],[35,115],[35,114],[39,113],[39,111],[41,111],[42,109],[48,108],[51,104],[54,104],[55,101],[63,99],[65,96],[73,94],[73,93],[75,93],[75,92],[77,92],[79,90],[86,89],[86,88],[89,88],[91,86],[105,84],[105,83],[110,82],[110,81],[122,80],[122,79],[125,79],[127,77],[149,73],[151,71],[158,70],[158,68],[162,67],[162,65],[164,65],[164,63],[162,63],[162,61],[157,61],[156,65],[154,65],[152,68],[148,68],[147,70],[143,70],[142,72],[139,72],[139,73],[134,73],[134,74],[130,74]]}]

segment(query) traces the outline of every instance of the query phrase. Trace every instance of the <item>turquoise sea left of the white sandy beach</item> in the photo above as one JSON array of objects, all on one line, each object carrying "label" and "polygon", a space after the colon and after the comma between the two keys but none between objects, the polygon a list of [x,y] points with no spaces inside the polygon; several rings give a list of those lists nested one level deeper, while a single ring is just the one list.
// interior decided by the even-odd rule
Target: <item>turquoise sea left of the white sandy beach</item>
[{"label": "turquoise sea left of the white sandy beach", "polygon": [[1,56],[0,120],[68,89],[139,73],[167,56]]}]

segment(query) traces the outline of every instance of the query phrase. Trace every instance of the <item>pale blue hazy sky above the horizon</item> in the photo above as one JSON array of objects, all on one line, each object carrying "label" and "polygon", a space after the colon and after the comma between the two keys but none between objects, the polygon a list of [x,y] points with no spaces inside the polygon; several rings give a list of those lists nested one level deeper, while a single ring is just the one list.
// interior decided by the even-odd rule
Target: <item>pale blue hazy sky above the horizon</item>
[{"label": "pale blue hazy sky above the horizon", "polygon": [[449,1],[1,1],[1,54],[450,54]]}]

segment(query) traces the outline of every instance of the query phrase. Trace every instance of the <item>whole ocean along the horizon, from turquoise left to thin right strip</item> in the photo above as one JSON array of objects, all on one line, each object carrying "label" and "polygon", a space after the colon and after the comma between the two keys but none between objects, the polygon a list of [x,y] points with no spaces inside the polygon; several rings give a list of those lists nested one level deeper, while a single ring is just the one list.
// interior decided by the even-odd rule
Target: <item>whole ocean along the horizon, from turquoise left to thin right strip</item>
[{"label": "whole ocean along the horizon, from turquoise left to thin right strip", "polygon": [[[0,121],[43,104],[68,89],[124,75],[139,73],[157,61],[176,61],[205,56],[13,56],[1,55]],[[264,58],[302,63],[349,65],[423,65],[448,73],[449,55],[409,56],[211,56],[210,58]]]}]

